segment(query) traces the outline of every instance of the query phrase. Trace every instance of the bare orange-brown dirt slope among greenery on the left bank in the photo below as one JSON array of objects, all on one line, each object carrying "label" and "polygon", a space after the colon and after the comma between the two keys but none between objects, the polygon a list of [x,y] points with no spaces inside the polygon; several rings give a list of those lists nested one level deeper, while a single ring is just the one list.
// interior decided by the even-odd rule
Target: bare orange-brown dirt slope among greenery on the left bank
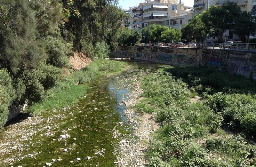
[{"label": "bare orange-brown dirt slope among greenery on the left bank", "polygon": [[69,61],[70,61],[71,67],[74,70],[80,70],[92,62],[92,59],[88,55],[85,55],[84,53],[78,53],[78,52],[73,52],[73,53],[74,53],[73,55],[69,56]]}]

